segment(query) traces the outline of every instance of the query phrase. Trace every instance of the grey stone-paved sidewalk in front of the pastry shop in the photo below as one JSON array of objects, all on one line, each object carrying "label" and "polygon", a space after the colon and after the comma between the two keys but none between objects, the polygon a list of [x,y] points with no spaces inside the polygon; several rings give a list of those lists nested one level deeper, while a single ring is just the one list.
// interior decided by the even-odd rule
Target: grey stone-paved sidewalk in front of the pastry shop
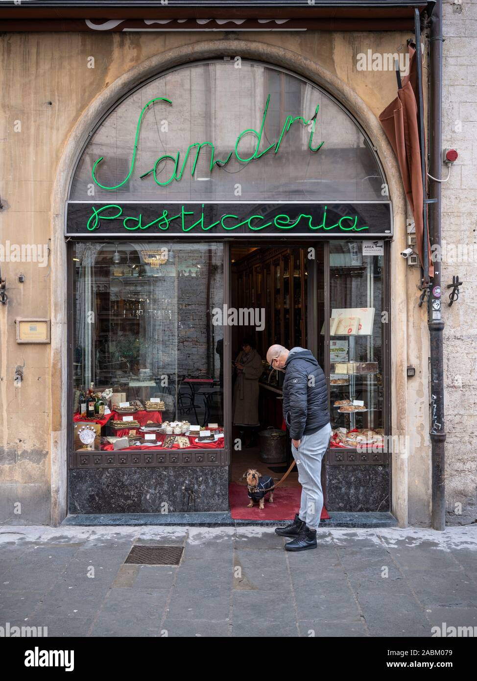
[{"label": "grey stone-paved sidewalk in front of the pastry shop", "polygon": [[[476,525],[318,530],[318,549],[296,554],[285,541],[272,528],[2,526],[0,627],[430,637],[445,623],[477,635]],[[180,565],[125,565],[134,544],[182,546]]]}]

